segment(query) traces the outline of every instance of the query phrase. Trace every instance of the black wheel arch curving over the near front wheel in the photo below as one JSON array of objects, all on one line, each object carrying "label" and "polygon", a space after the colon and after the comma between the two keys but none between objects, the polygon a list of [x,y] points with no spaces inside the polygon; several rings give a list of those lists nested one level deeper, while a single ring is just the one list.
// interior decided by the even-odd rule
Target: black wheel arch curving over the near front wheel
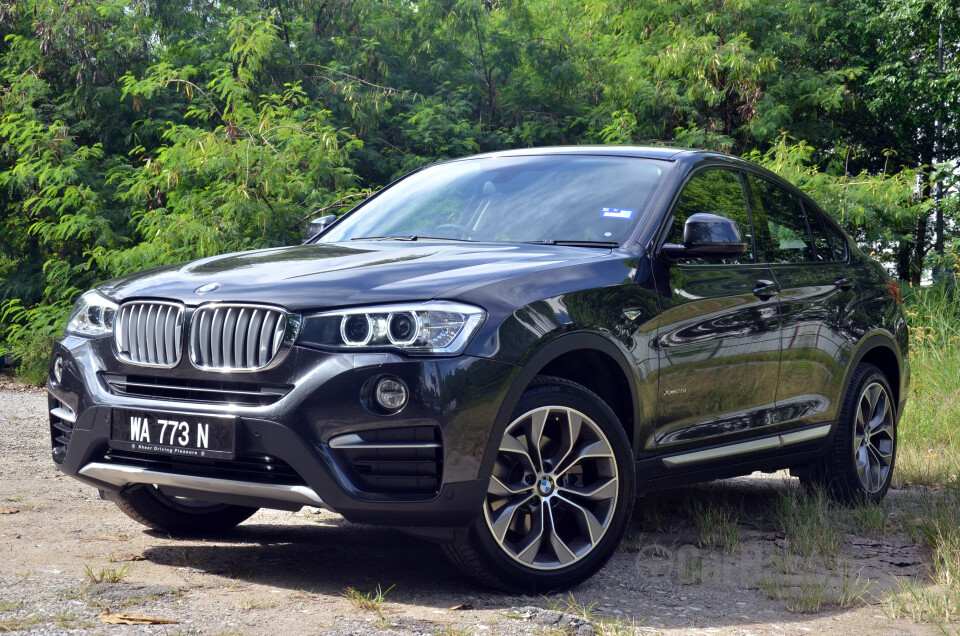
[{"label": "black wheel arch curving over the near front wheel", "polygon": [[[552,340],[533,354],[507,389],[484,451],[481,478],[490,477],[499,440],[524,391],[534,378],[544,375],[581,384],[607,402],[636,455],[641,440],[641,405],[635,369],[620,348],[603,336],[573,333]],[[628,395],[624,397],[624,393]]]}]

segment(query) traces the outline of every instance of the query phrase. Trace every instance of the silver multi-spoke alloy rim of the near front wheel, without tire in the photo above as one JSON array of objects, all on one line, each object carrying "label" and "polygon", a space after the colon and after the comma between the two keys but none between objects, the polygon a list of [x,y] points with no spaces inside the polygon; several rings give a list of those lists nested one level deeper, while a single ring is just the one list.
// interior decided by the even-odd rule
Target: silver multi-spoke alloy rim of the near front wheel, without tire
[{"label": "silver multi-spoke alloy rim of the near front wheel, without tire", "polygon": [[555,570],[589,554],[617,506],[610,441],[583,413],[544,406],[504,433],[484,504],[494,540],[510,558]]}]

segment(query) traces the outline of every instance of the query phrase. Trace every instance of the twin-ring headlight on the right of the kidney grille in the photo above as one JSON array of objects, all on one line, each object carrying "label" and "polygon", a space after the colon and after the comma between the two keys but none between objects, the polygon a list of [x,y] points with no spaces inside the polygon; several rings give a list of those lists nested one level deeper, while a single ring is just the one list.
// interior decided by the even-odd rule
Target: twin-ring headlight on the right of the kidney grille
[{"label": "twin-ring headlight on the right of the kidney grille", "polygon": [[347,350],[458,354],[485,315],[479,307],[446,301],[331,311],[307,316],[300,342]]}]

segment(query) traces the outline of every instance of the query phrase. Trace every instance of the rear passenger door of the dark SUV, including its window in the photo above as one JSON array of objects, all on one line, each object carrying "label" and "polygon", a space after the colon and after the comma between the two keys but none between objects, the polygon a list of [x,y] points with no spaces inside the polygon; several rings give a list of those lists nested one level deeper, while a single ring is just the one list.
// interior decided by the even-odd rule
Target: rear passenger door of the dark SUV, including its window
[{"label": "rear passenger door of the dark SUV, including its window", "polygon": [[786,188],[752,174],[746,183],[759,254],[780,286],[776,427],[830,420],[862,322],[846,242]]}]

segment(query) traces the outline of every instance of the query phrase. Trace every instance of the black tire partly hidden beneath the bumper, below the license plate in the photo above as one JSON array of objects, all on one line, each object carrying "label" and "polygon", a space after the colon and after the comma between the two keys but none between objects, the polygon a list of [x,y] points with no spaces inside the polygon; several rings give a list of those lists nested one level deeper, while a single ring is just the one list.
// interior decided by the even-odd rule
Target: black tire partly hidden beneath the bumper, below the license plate
[{"label": "black tire partly hidden beneath the bumper, below the license plate", "polygon": [[156,486],[134,486],[111,496],[128,517],[171,535],[220,534],[246,521],[258,508],[218,504],[164,494]]}]

